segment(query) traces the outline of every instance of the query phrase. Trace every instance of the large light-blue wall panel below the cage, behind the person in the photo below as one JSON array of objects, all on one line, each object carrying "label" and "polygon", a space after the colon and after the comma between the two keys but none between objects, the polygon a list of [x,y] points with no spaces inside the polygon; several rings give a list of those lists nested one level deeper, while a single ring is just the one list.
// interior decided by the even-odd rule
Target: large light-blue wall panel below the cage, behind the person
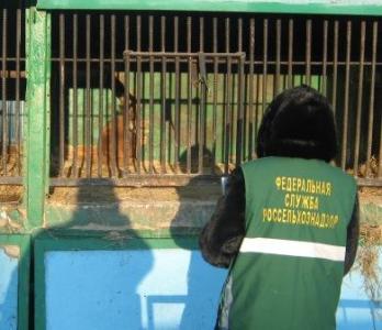
[{"label": "large light-blue wall panel below the cage, behind the person", "polygon": [[[212,329],[226,275],[181,249],[48,252],[45,266],[48,330]],[[337,322],[382,329],[382,308],[356,271],[345,278]]]}]

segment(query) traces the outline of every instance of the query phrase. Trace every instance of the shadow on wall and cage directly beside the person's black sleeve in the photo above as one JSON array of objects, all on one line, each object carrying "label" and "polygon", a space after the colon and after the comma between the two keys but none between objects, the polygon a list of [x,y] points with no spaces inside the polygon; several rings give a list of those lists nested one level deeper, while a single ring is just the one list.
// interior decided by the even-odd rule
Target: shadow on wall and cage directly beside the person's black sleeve
[{"label": "shadow on wall and cage directly beside the person's black sleeve", "polygon": [[[192,164],[198,163],[199,146],[191,147]],[[203,148],[203,163],[211,168],[212,153]],[[180,156],[180,163],[187,163],[187,151]],[[196,166],[195,166],[196,168]],[[220,174],[220,168],[215,168]],[[220,186],[200,186],[198,178],[191,179],[186,187],[177,189],[179,210],[171,222],[171,237],[178,248],[189,254],[187,271],[187,295],[179,328],[184,330],[213,329],[216,319],[220,293],[227,271],[207,264],[198,245],[198,237],[203,224],[210,220],[220,196]],[[186,240],[189,238],[189,240]],[[191,239],[191,240],[190,240]]]}]

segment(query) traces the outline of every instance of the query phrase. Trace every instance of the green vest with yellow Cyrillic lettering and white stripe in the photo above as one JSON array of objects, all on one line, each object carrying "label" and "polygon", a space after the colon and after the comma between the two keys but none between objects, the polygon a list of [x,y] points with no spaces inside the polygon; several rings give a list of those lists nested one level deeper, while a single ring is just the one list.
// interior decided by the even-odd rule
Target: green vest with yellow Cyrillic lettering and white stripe
[{"label": "green vest with yellow Cyrillic lettering and white stripe", "polygon": [[218,329],[335,329],[355,179],[317,160],[265,157],[241,168],[246,237]]}]

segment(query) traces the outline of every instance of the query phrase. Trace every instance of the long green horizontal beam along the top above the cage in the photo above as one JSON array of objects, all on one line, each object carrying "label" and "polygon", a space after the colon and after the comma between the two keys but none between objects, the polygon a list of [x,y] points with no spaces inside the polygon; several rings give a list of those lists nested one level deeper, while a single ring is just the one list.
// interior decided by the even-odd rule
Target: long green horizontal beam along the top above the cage
[{"label": "long green horizontal beam along the top above the cage", "polygon": [[38,9],[113,9],[113,10],[180,10],[180,11],[232,11],[258,13],[304,13],[382,15],[379,0],[40,0]]}]

